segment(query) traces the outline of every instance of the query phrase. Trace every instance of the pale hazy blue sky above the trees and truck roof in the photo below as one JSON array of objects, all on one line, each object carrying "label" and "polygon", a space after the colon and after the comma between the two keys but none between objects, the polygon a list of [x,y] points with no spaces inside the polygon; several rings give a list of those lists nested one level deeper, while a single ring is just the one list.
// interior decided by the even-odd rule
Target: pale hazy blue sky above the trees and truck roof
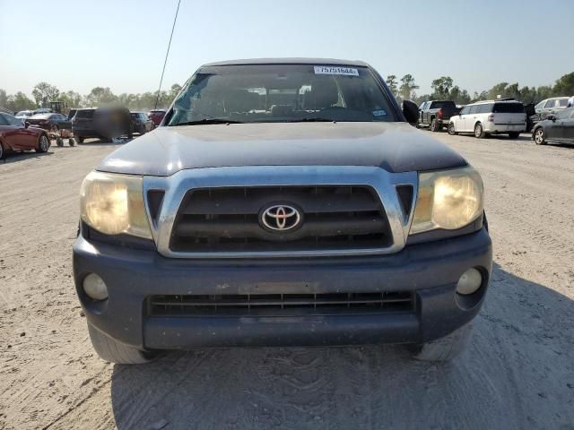
[{"label": "pale hazy blue sky above the trees and truck roof", "polygon": [[[0,89],[157,90],[178,0],[0,0]],[[162,88],[217,60],[359,59],[469,90],[574,72],[574,1],[181,0]]]}]

